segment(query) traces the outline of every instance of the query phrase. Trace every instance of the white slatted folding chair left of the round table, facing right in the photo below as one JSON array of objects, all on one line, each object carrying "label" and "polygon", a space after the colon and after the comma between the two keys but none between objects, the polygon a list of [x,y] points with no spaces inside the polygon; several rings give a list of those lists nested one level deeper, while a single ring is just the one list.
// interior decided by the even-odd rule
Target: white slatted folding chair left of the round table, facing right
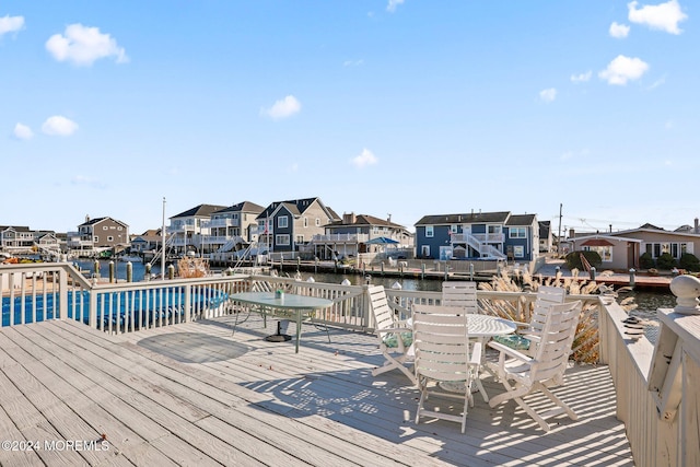
[{"label": "white slatted folding chair left of the round table, facing right", "polygon": [[374,332],[378,339],[380,350],[385,358],[383,366],[372,371],[376,376],[390,370],[399,370],[410,381],[416,384],[416,376],[411,369],[406,366],[409,363],[407,354],[412,342],[412,331],[404,320],[396,318],[396,313],[392,310],[386,300],[384,285],[374,285],[368,289],[370,293],[370,308],[374,315]]}]

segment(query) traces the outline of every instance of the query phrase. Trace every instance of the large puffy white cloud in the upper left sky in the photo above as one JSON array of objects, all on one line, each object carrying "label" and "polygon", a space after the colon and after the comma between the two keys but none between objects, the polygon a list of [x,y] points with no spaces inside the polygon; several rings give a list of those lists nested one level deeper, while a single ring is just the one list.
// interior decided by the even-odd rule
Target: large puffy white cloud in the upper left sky
[{"label": "large puffy white cloud in the upper left sky", "polygon": [[101,34],[97,27],[71,24],[65,35],[54,34],[46,42],[46,49],[58,61],[71,61],[78,66],[91,66],[95,60],[115,57],[117,63],[129,61],[124,48],[109,34]]}]

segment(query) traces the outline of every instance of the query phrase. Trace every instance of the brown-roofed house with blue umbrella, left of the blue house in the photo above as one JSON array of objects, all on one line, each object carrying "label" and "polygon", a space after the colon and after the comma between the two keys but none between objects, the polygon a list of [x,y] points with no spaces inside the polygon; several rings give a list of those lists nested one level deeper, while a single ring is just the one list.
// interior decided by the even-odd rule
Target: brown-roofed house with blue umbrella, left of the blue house
[{"label": "brown-roofed house with blue umbrella, left of the blue house", "polygon": [[[395,256],[412,256],[413,235],[404,225],[392,222],[390,218],[343,213],[342,219],[326,224],[325,231],[312,240],[314,256],[319,259],[332,259],[334,255],[357,257],[359,254],[373,257],[386,253],[386,245],[396,252]],[[371,262],[371,258],[366,259]]]}]

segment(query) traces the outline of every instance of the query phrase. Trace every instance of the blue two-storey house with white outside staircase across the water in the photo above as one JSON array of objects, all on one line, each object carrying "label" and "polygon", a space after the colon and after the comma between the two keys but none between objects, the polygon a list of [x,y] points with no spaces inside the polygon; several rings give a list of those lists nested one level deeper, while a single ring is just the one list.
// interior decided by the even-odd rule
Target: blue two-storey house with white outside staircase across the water
[{"label": "blue two-storey house with white outside staircase across the water", "polygon": [[424,215],[416,224],[416,254],[424,259],[510,259],[539,256],[536,214],[471,212]]}]

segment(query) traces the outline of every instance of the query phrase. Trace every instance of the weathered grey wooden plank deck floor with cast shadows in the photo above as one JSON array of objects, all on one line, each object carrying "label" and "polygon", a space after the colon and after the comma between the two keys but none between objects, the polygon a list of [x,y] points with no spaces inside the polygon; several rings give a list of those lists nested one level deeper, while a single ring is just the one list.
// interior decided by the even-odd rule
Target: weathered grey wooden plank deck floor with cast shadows
[{"label": "weathered grey wooden plank deck floor with cast shadows", "polygon": [[120,336],[73,322],[0,329],[0,437],[39,443],[3,444],[0,465],[633,465],[606,366],[571,369],[557,390],[578,421],[544,433],[514,402],[475,395],[460,434],[413,423],[418,392],[399,372],[372,377],[372,336],[331,329],[328,343],[303,325],[295,354],[293,341],[261,339],[275,319],[233,336],[232,320]]}]

